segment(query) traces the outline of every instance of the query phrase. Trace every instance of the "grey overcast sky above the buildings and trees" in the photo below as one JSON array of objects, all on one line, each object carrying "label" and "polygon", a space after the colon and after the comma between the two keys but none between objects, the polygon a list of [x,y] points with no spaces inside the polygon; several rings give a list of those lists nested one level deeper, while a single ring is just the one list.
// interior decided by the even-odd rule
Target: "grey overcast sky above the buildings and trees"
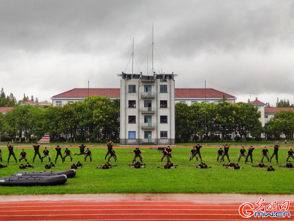
[{"label": "grey overcast sky above the buildings and trees", "polygon": [[[177,74],[237,102],[294,103],[294,1],[3,1],[0,88],[41,100],[119,88],[122,71]],[[147,63],[148,57],[148,63]],[[139,67],[139,70],[138,70]]]}]

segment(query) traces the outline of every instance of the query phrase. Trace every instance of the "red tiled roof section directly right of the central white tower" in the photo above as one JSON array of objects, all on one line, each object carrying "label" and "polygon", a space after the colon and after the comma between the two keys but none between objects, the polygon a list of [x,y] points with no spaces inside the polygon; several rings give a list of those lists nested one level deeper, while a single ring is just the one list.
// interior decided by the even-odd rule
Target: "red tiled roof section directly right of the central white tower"
[{"label": "red tiled roof section directly right of the central white tower", "polygon": [[175,97],[176,98],[235,98],[235,96],[226,94],[219,90],[213,88],[176,88]]}]

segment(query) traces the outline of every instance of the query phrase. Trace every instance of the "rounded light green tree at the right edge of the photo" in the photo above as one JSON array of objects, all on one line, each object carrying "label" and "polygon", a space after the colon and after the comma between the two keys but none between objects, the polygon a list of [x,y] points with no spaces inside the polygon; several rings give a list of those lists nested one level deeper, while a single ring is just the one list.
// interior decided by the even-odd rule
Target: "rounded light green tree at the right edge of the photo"
[{"label": "rounded light green tree at the right edge of the photo", "polygon": [[272,133],[284,134],[285,139],[294,134],[294,111],[280,110],[270,118],[268,130]]}]

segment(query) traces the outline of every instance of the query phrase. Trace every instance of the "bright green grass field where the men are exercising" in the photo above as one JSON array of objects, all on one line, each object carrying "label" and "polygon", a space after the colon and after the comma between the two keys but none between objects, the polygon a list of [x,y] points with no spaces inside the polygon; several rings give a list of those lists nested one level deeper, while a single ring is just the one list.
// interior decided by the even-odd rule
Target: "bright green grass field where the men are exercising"
[{"label": "bright green grass field where the men are exercising", "polygon": [[[42,147],[42,146],[41,146]],[[202,148],[202,161],[212,166],[211,169],[198,169],[192,164],[200,163],[194,158],[189,161],[188,154],[191,148],[173,147],[171,161],[178,164],[176,169],[158,169],[157,166],[166,163],[166,158],[163,163],[160,161],[161,152],[149,148],[140,148],[146,151],[143,153],[143,162],[146,163],[146,168],[131,169],[128,166],[132,162],[134,148],[116,148],[114,150],[118,154],[117,162],[111,158],[111,164],[117,164],[117,167],[112,169],[102,170],[95,169],[100,164],[105,164],[104,160],[107,148],[91,148],[89,146],[94,158],[92,162],[89,158],[86,162],[83,161],[82,156],[74,156],[72,163],[81,161],[83,167],[77,169],[76,177],[68,179],[66,184],[53,187],[1,187],[1,194],[70,194],[70,193],[254,193],[254,194],[293,194],[294,190],[291,188],[293,184],[293,169],[278,167],[275,159],[269,164],[267,160],[264,161],[266,165],[272,165],[276,171],[268,172],[260,168],[251,167],[251,163],[245,164],[245,159],[242,158],[239,165],[245,167],[241,170],[225,169],[222,164],[216,162],[216,152],[218,148]],[[48,148],[54,163],[56,151],[53,148]],[[69,148],[71,152],[79,152],[78,148]],[[286,164],[286,154],[290,148],[279,150],[279,165]],[[3,164],[7,163],[8,150],[1,147],[3,151]],[[230,148],[229,156],[231,162],[238,161],[238,152],[240,148]],[[247,150],[247,149],[246,149]],[[253,151],[253,164],[260,163],[261,157],[258,148]],[[16,157],[19,156],[21,149],[14,148]],[[29,155],[29,162],[32,162],[34,156],[34,149],[25,149]],[[43,148],[40,148],[40,153]],[[273,148],[269,148],[270,154],[273,153]],[[62,150],[63,153],[63,150]],[[138,159],[138,158],[137,158]],[[291,160],[292,158],[290,158]],[[139,160],[139,159],[138,159]],[[26,162],[21,161],[22,164]],[[16,164],[13,157],[7,168],[0,169],[0,177],[8,176],[11,173],[18,172],[19,165]],[[41,164],[40,159],[36,158],[33,165],[37,168],[34,171],[44,170],[44,165],[48,164],[48,158],[44,158]],[[57,160],[57,166],[53,170],[69,169],[71,164],[69,157],[66,158],[64,164],[61,163],[61,158]],[[228,160],[225,158],[225,163]],[[32,164],[32,163],[31,163]],[[29,169],[26,169],[29,171]]]}]

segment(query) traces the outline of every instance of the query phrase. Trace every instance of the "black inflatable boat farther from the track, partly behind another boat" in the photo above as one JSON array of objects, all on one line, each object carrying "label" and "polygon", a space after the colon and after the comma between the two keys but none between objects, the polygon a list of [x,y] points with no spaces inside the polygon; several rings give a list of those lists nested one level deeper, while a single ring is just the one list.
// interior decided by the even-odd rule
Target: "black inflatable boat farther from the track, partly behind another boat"
[{"label": "black inflatable boat farther from the track, partly behind another boat", "polygon": [[14,174],[11,174],[9,177],[19,176],[19,177],[48,177],[48,176],[57,176],[64,174],[67,178],[72,178],[76,176],[76,170],[62,170],[62,171],[20,171]]}]

